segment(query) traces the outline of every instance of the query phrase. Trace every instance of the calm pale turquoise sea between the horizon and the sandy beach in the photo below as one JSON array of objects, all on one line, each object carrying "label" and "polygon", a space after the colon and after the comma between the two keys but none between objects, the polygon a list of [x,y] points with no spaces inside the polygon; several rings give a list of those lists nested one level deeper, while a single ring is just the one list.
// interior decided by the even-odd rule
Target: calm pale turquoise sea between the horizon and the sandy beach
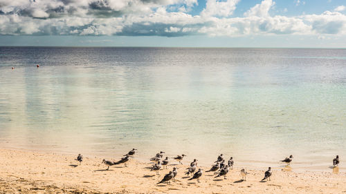
[{"label": "calm pale turquoise sea between the horizon and the sandy beach", "polygon": [[346,50],[0,47],[0,146],[345,171]]}]

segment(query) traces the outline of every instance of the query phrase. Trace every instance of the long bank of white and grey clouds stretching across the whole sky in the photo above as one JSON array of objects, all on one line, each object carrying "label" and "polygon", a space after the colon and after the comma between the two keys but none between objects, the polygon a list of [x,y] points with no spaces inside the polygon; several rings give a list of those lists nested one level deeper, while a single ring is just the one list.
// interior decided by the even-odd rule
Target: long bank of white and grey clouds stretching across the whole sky
[{"label": "long bank of white and grey clouds stretching across the whole sky", "polygon": [[337,10],[298,17],[271,16],[275,2],[263,0],[244,17],[231,17],[237,3],[208,0],[206,9],[192,16],[187,10],[197,0],[0,0],[0,35],[327,37],[346,33],[346,16]]}]

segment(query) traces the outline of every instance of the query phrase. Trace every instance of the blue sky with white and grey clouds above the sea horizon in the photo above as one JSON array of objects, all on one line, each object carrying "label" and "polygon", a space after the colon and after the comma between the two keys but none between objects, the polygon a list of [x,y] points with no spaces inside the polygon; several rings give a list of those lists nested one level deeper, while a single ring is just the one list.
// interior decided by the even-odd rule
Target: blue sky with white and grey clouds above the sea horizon
[{"label": "blue sky with white and grey clouds above the sea horizon", "polygon": [[0,0],[0,46],[345,48],[346,0]]}]

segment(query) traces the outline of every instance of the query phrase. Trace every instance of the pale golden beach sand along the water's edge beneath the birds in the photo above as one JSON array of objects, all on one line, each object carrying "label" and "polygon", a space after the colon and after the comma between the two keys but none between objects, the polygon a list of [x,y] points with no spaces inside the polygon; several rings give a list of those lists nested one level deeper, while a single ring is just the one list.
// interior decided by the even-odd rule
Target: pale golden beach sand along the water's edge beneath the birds
[{"label": "pale golden beach sand along the water's edge beneath the birds", "polygon": [[[84,156],[82,165],[76,155],[39,153],[33,151],[0,149],[0,193],[346,193],[346,173],[295,173],[273,168],[271,181],[260,182],[262,171],[248,169],[246,181],[240,181],[241,166],[228,173],[227,180],[203,173],[201,182],[189,181],[184,175],[190,161],[177,165],[171,161],[168,169],[156,175],[150,171],[150,162],[134,159],[123,165],[111,166],[105,171],[102,158]],[[114,160],[119,159],[114,158]],[[158,184],[163,176],[178,167],[176,182]],[[204,171],[210,166],[199,166]],[[334,171],[338,169],[335,168]]]}]

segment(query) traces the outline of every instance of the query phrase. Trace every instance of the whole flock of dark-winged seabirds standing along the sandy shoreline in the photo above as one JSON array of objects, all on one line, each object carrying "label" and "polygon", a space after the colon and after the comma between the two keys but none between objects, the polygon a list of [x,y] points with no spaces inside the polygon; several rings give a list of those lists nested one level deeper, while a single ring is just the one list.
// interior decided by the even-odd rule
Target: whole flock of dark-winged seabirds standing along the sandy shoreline
[{"label": "whole flock of dark-winged seabirds standing along the sandy shoreline", "polygon": [[[106,170],[109,170],[109,166],[113,166],[113,165],[117,165],[117,164],[124,164],[125,167],[127,166],[127,162],[129,161],[129,157],[133,157],[136,153],[137,149],[133,148],[131,151],[129,151],[129,153],[127,153],[126,155],[123,155],[125,157],[122,157],[118,162],[113,162],[111,160],[107,160],[107,159],[103,159],[102,160],[102,164],[107,166]],[[156,153],[156,155],[152,158],[150,158],[150,161],[152,162],[157,162],[156,164],[154,164],[151,168],[151,171],[156,171],[156,174],[158,175],[158,171],[160,171],[161,169],[167,169],[167,165],[170,164],[170,158],[169,157],[165,157],[165,159],[163,159],[163,154],[165,152],[161,151],[160,153]],[[183,158],[186,155],[178,155],[176,157],[172,157],[172,159],[176,160],[177,162],[179,162],[179,164],[183,164],[181,163],[181,160],[183,160]],[[83,156],[82,155],[78,155],[77,159],[78,162],[80,162],[80,164],[82,164],[83,161]],[[289,166],[289,164],[292,162],[293,160],[293,155],[290,155],[289,157],[286,157],[283,160],[280,160],[280,162],[285,162],[287,166]],[[190,175],[193,174],[193,176],[188,179],[188,180],[197,180],[197,182],[199,182],[199,178],[203,175],[203,171],[201,168],[197,170],[197,159],[194,159],[193,162],[190,163],[189,168],[186,168],[187,172],[185,172],[185,175],[188,175],[190,177]],[[210,170],[206,171],[206,172],[214,172],[215,178],[216,177],[221,177],[224,176],[224,179],[226,179],[226,175],[227,173],[230,171],[230,169],[233,169],[233,157],[230,157],[230,159],[228,160],[228,162],[226,163],[226,160],[224,159],[224,155],[220,154],[219,157],[217,157],[217,160],[214,162],[215,164],[212,165],[212,167],[210,168]],[[338,164],[340,163],[339,161],[339,156],[336,155],[336,157],[333,159],[333,166],[338,166]],[[157,184],[161,184],[166,182],[167,184],[170,184],[170,181],[175,181],[174,177],[176,177],[176,175],[178,174],[177,171],[178,168],[174,167],[172,171],[170,171],[170,173],[166,174],[163,177],[163,180],[161,180],[161,182],[158,182]],[[246,181],[246,175],[248,175],[248,173],[246,172],[245,168],[242,168],[242,170],[240,171],[240,175],[242,176],[242,181]],[[264,178],[261,180],[262,182],[264,180],[271,180],[271,175],[272,175],[272,171],[271,171],[271,167],[268,167],[268,170],[264,173]]]}]

